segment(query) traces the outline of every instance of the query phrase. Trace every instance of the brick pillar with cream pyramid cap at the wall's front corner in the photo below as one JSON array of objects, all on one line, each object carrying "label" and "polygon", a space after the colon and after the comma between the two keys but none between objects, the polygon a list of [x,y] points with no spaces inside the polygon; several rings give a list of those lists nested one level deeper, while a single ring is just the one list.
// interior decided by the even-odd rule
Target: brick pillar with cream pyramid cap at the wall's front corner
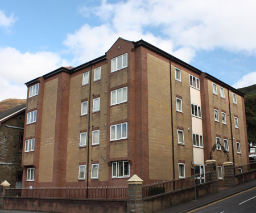
[{"label": "brick pillar with cream pyramid cap at the wall's front corner", "polygon": [[136,174],[131,177],[128,182],[128,201],[127,212],[128,213],[143,213],[143,200],[142,200],[142,182]]}]

